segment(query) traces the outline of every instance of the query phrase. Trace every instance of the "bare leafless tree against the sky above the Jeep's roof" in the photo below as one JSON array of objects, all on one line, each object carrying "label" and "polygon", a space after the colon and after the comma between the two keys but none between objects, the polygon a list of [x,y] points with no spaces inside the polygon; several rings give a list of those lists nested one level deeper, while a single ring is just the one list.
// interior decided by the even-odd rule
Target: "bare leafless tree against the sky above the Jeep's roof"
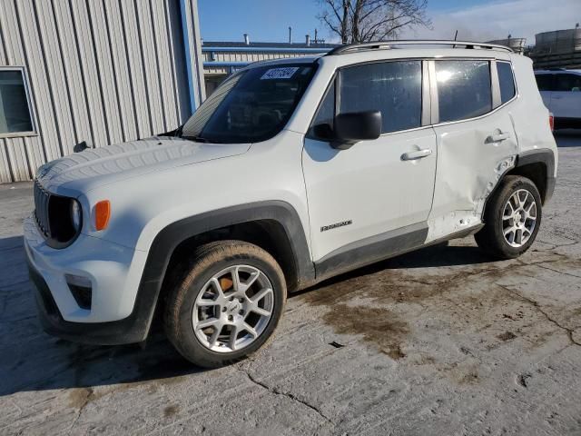
[{"label": "bare leafless tree against the sky above the Jeep's roof", "polygon": [[317,0],[320,21],[343,44],[384,41],[406,27],[431,25],[428,0]]}]

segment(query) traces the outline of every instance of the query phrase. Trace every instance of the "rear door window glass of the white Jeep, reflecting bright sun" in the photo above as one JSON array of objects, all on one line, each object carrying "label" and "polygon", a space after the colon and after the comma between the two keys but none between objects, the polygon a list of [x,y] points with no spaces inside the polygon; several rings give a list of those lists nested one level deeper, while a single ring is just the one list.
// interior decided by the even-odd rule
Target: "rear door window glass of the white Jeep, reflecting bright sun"
[{"label": "rear door window glass of the white Jeep, reflecting bright sun", "polygon": [[466,120],[492,110],[488,61],[436,61],[439,122]]}]

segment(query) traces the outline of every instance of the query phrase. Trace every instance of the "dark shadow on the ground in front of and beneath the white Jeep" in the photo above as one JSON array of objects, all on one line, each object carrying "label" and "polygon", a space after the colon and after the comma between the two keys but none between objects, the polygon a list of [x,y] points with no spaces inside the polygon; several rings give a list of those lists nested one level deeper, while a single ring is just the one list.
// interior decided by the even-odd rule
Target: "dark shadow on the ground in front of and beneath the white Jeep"
[{"label": "dark shadow on the ground in front of and beneath the white Jeep", "polygon": [[[489,259],[476,247],[442,243],[342,274],[319,286],[385,269],[485,262]],[[316,292],[317,287],[307,292]],[[0,396],[145,381],[172,383],[183,375],[207,371],[183,359],[165,339],[159,323],[143,344],[83,345],[45,334],[34,304],[22,237],[0,239]]]}]

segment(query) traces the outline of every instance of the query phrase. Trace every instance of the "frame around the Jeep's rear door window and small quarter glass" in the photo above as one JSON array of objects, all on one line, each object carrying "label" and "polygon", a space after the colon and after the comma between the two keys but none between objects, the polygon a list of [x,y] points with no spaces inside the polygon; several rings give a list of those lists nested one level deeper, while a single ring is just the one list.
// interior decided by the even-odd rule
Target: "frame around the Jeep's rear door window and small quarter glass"
[{"label": "frame around the Jeep's rear door window and small quarter glass", "polygon": [[[492,93],[492,110],[488,111],[486,114],[481,114],[478,116],[473,116],[471,118],[465,118],[462,120],[454,120],[454,121],[439,121],[439,105],[438,105],[438,81],[436,80],[436,63],[438,61],[486,61],[489,63],[490,68],[490,87]],[[515,95],[507,102],[502,103],[500,100],[500,84],[498,83],[498,72],[497,72],[497,62],[505,62],[510,64],[510,68],[512,70],[512,77],[515,84]],[[446,57],[438,57],[437,59],[431,58],[428,60],[428,70],[430,74],[430,84],[431,84],[431,103],[432,103],[432,110],[431,110],[431,122],[433,126],[440,126],[440,125],[448,125],[448,124],[456,124],[456,123],[466,123],[470,121],[479,120],[481,118],[487,117],[491,114],[495,114],[498,110],[504,108],[507,104],[511,104],[517,98],[520,97],[518,92],[517,86],[517,76],[515,74],[515,68],[512,62],[506,59],[497,59],[496,57],[486,57],[486,56],[478,56],[478,57],[454,57],[454,56],[446,56]]]}]

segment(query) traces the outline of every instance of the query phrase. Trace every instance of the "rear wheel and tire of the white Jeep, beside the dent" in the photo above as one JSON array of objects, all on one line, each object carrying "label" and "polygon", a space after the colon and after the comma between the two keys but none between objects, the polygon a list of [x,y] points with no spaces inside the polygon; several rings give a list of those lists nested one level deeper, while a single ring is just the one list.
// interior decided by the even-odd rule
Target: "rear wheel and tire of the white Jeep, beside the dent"
[{"label": "rear wheel and tire of the white Jeep, beside the dent", "polygon": [[[525,203],[521,205],[523,198]],[[531,205],[533,200],[535,203]],[[528,214],[525,212],[527,208],[530,208]],[[516,218],[503,218],[511,213]],[[534,219],[532,215],[535,215]],[[541,218],[541,196],[535,183],[526,177],[507,175],[489,199],[484,213],[485,225],[474,239],[478,247],[495,259],[514,259],[535,242]]]}]

